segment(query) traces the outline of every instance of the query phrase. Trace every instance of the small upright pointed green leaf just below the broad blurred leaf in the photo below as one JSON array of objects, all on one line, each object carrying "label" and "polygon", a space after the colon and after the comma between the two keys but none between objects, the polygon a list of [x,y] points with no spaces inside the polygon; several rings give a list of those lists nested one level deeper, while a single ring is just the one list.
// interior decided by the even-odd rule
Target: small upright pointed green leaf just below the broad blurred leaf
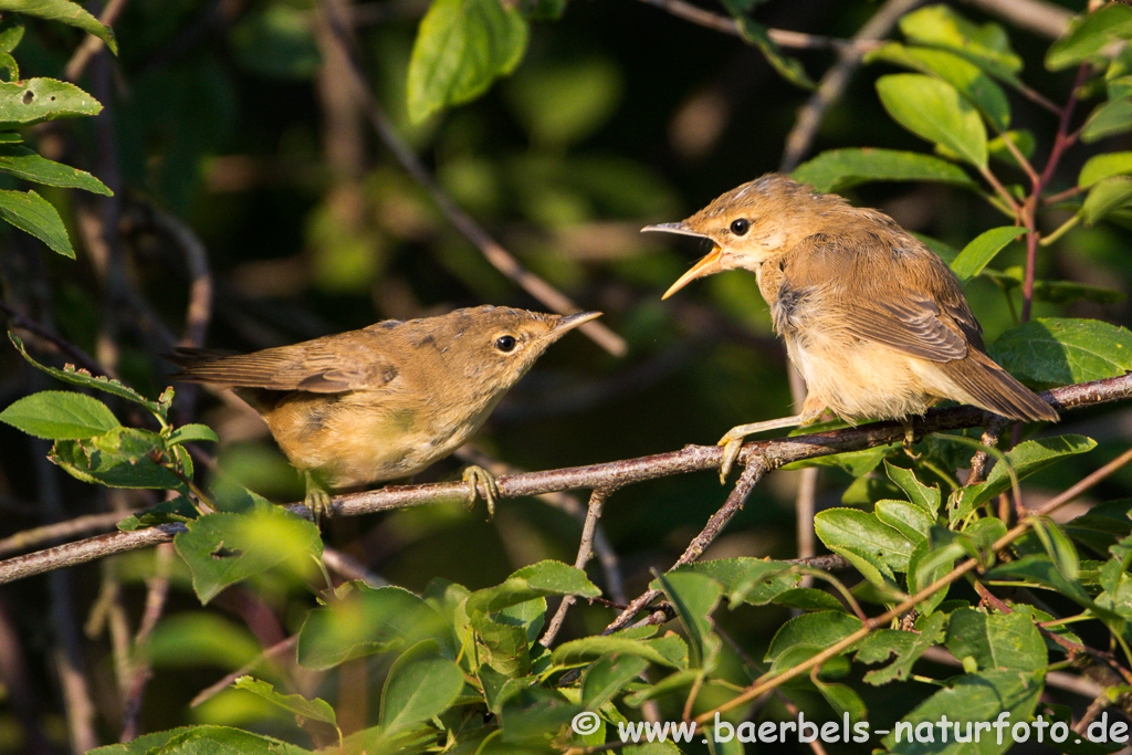
[{"label": "small upright pointed green leaf just below the broad blurred leaf", "polygon": [[401,654],[385,678],[380,714],[384,738],[448,710],[463,688],[463,672],[440,655],[436,641],[417,643]]}]

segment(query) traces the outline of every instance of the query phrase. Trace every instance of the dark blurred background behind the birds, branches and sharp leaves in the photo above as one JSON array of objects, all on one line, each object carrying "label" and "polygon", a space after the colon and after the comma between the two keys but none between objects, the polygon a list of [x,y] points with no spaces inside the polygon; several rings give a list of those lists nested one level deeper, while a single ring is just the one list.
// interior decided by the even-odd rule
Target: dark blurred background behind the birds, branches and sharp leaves
[{"label": "dark blurred background behind the birds, branches and sharp leaves", "polygon": [[[480,303],[546,309],[454,229],[375,134],[335,53],[334,31],[320,5],[128,3],[114,24],[120,58],[100,58],[79,81],[106,105],[103,115],[54,123],[28,137],[48,156],[88,170],[115,189],[111,217],[119,241],[100,249],[96,234],[85,231],[83,218],[105,217],[97,200],[45,192],[72,211],[65,217],[78,218],[71,225],[78,259],[48,254],[9,229],[3,269],[10,306],[112,362],[125,381],[151,396],[169,381],[170,368],[156,354],[169,351],[182,333],[191,282],[190,255],[170,240],[170,228],[195,235],[206,251],[213,285],[208,346],[255,350]],[[755,17],[769,27],[843,38],[878,5],[771,0],[757,7]],[[1079,5],[1064,3],[1073,12]],[[978,23],[1003,23],[980,7],[957,5]],[[680,220],[722,191],[777,170],[808,93],[784,81],[736,36],[646,2],[576,0],[559,20],[532,25],[514,75],[470,104],[412,125],[405,115],[405,72],[426,9],[419,0],[352,6],[351,33],[365,74],[393,127],[458,206],[581,308],[603,311],[601,321],[628,346],[615,357],[582,335],[563,340],[507,396],[474,446],[512,467],[543,470],[712,444],[739,422],[792,413],[784,353],[754,276],[715,276],[662,302],[661,292],[703,249],[692,240],[642,235],[640,229]],[[1050,40],[1006,27],[1026,60],[1022,77],[1063,102],[1072,71],[1050,75],[1043,68]],[[77,41],[69,29],[32,24],[16,51],[22,71],[59,76]],[[786,52],[815,79],[835,61],[829,49]],[[889,119],[877,101],[873,81],[893,70],[878,63],[857,71],[829,110],[807,158],[834,147],[929,148]],[[1055,117],[1015,94],[1011,104],[1014,126],[1031,128],[1037,153],[1045,154]],[[1088,155],[1121,148],[1126,141],[1078,149],[1055,186],[1073,186]],[[1009,181],[1022,181],[1020,173],[996,170]],[[1003,224],[979,196],[961,188],[873,183],[847,195],[957,249]],[[1061,220],[1052,214],[1049,228]],[[1039,275],[1124,291],[1132,275],[1126,237],[1114,225],[1079,229],[1041,250]],[[1018,246],[996,265],[1020,265]],[[1014,324],[993,283],[975,281],[967,292],[988,343]],[[1038,303],[1035,314],[1129,320],[1126,301]],[[32,346],[46,361],[66,360],[48,345],[33,341]],[[40,380],[10,349],[0,354],[0,404],[58,387]],[[221,434],[220,473],[273,500],[302,497],[298,477],[250,410],[206,393],[190,404],[194,393],[178,387],[181,420],[204,421]],[[1108,453],[1104,441],[1126,424],[1125,413],[1107,409],[1074,413],[1058,431],[1097,437],[1103,447],[1096,456]],[[67,518],[106,507],[103,489],[42,469],[45,451],[0,426],[3,534],[43,521],[48,479],[58,487]],[[1089,457],[1079,464],[1083,474],[1099,462]],[[448,460],[418,481],[455,479],[462,466],[461,460]],[[1056,470],[1056,478],[1038,477],[1034,484],[1056,491],[1073,481],[1067,475],[1074,462]],[[823,472],[818,505],[839,505],[850,481],[835,469]],[[1129,484],[1130,473],[1118,474],[1097,496],[1127,495]],[[796,556],[796,490],[797,473],[769,475],[707,557]],[[629,597],[644,587],[650,569],[671,565],[726,494],[713,473],[703,473],[632,486],[610,498],[601,522]],[[112,503],[137,507],[154,500],[142,492]],[[560,508],[523,499],[503,501],[491,522],[481,508],[455,504],[335,521],[326,539],[410,590],[435,577],[477,589],[540,559],[573,563],[580,532],[580,522]],[[122,580],[127,609],[121,616],[130,617],[122,620],[134,621],[140,581],[155,558],[142,551],[113,566],[74,570],[76,615],[88,616],[95,601],[105,599],[100,584],[104,570],[113,569]],[[144,726],[240,723],[241,715],[252,713],[208,705],[189,712],[186,703],[238,667],[241,649],[252,653],[256,643],[293,633],[298,627],[289,619],[302,612],[289,612],[288,606],[308,606],[309,595],[261,584],[269,598],[256,600],[266,601],[272,620],[239,594],[222,597],[205,612],[180,567],[171,568],[174,594],[156,627],[156,676]],[[600,569],[590,570],[604,585]],[[29,686],[37,695],[29,704],[58,735],[67,723],[57,684],[48,681],[52,660],[42,628],[52,619],[45,584],[45,577],[34,577],[0,593],[0,625],[10,637],[0,637],[0,664],[23,659],[25,674],[43,680]],[[88,623],[78,643],[103,700],[112,697],[97,687],[112,684],[113,616]],[[608,609],[578,607],[561,638],[600,630],[612,616]],[[787,617],[778,607],[720,611],[724,628],[756,657]],[[188,646],[195,650],[187,653]],[[18,710],[14,701],[0,703],[0,748],[19,741]]]}]

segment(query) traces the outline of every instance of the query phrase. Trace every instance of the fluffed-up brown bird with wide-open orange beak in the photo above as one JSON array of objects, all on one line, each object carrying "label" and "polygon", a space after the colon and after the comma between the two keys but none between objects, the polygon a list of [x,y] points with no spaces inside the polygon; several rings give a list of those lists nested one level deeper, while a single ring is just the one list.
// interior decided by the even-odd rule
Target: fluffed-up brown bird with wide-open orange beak
[{"label": "fluffed-up brown bird with wide-open orange beak", "polygon": [[753,432],[807,424],[826,409],[850,423],[909,415],[941,398],[1015,420],[1057,412],[987,357],[959,281],[940,257],[875,209],[852,207],[769,173],[679,223],[649,225],[709,239],[712,250],[672,284],[744,268],[758,278],[774,331],[806,380],[801,413],[724,435],[726,478]]}]

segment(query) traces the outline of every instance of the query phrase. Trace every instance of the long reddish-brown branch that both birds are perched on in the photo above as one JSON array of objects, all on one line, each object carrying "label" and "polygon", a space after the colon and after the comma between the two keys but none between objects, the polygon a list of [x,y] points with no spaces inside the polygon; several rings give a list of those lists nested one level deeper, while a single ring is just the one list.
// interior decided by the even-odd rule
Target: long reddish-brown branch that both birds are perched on
[{"label": "long reddish-brown branch that both birds are perched on", "polygon": [[[1054,388],[1041,395],[1047,397],[1061,412],[1123,401],[1132,397],[1132,374]],[[917,421],[917,429],[927,434],[938,430],[984,427],[992,417],[994,415],[975,406],[933,409],[927,412],[923,422]],[[769,471],[791,462],[900,443],[903,437],[904,431],[899,422],[874,422],[827,432],[814,432],[773,440],[755,440],[743,447],[739,461],[748,466],[765,467]],[[563,490],[612,488],[674,474],[714,471],[719,469],[722,461],[723,449],[720,446],[686,446],[680,451],[653,456],[503,475],[496,482],[499,487],[500,498],[521,498]],[[335,516],[357,516],[441,501],[462,501],[466,499],[466,496],[468,486],[458,481],[418,486],[386,486],[377,490],[337,496],[333,499],[332,507]],[[301,504],[292,504],[288,506],[288,509],[300,516],[310,517],[309,509]],[[717,516],[719,515],[718,513]],[[689,551],[697,547],[696,543],[702,538],[712,537],[711,526],[710,524],[709,529],[705,529],[689,546]],[[0,584],[106,556],[147,548],[158,542],[172,540],[178,532],[185,531],[186,527],[182,524],[160,524],[147,530],[114,532],[10,558],[0,561]],[[805,563],[821,568],[822,559],[830,558],[833,557],[820,556],[806,559]]]}]

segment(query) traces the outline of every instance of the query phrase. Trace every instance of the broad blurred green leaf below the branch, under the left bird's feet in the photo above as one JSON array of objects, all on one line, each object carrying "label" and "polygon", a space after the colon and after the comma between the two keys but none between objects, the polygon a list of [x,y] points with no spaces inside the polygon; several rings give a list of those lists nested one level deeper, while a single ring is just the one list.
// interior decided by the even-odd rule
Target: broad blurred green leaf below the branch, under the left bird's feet
[{"label": "broad blurred green leaf below the branch, under the left bird's feet", "polygon": [[353,658],[445,636],[441,616],[408,590],[351,586],[346,594],[307,615],[298,647],[305,668],[328,669]]}]

